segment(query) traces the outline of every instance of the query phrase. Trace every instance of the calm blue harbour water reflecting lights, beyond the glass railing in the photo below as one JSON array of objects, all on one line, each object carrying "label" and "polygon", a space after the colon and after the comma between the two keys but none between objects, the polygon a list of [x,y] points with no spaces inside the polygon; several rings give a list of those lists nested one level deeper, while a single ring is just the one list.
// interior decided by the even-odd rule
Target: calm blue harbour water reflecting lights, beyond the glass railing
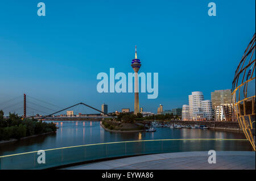
[{"label": "calm blue harbour water reflecting lights, beyond the glass railing", "polygon": [[[47,134],[0,145],[0,155],[24,153],[28,151],[62,148],[102,142],[158,140],[171,138],[229,138],[245,139],[242,132],[216,131],[201,129],[156,128],[156,132],[108,132],[100,126],[100,121],[54,121],[59,127],[56,133]],[[191,151],[198,150],[205,142],[195,142]],[[248,141],[214,141],[210,143],[213,150],[251,151]],[[182,151],[182,150],[174,150]]]}]

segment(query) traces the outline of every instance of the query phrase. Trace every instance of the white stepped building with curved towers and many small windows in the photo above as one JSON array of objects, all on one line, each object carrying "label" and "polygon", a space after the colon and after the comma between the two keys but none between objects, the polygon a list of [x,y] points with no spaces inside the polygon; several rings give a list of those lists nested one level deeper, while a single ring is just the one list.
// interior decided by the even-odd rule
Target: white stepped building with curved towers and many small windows
[{"label": "white stepped building with curved towers and many small windows", "polygon": [[192,92],[188,96],[189,105],[182,107],[182,120],[205,121],[213,119],[212,101],[204,100],[203,92]]}]

